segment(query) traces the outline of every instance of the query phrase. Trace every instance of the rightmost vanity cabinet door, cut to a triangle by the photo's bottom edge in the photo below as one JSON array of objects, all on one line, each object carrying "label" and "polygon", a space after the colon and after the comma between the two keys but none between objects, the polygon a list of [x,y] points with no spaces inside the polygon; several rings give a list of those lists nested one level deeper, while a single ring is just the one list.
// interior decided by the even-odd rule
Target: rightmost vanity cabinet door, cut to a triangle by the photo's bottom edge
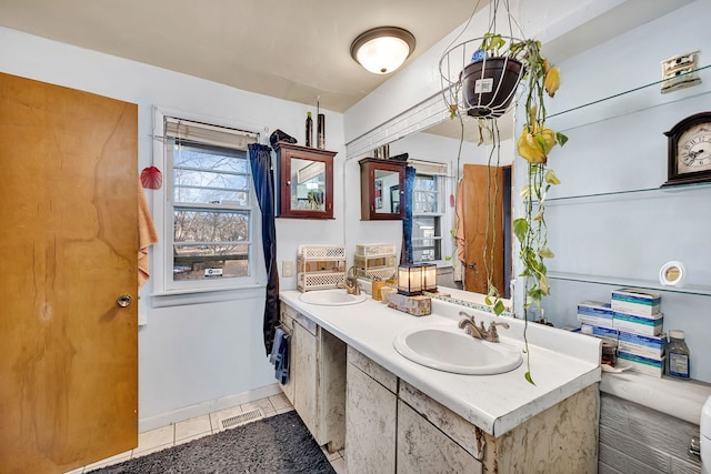
[{"label": "rightmost vanity cabinet door, cut to a triangle by the photo's bottom edge", "polygon": [[397,446],[398,473],[483,472],[477,458],[402,401],[398,401]]}]

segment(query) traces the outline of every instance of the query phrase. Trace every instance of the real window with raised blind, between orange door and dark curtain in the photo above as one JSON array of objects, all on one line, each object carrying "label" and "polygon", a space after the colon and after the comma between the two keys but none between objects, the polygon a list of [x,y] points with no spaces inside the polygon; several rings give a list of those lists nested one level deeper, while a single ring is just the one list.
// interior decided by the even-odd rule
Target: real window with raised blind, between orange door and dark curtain
[{"label": "real window with raised blind, between orange door and dark curtain", "polygon": [[248,144],[257,133],[162,117],[166,160],[163,290],[254,281],[254,205]]}]

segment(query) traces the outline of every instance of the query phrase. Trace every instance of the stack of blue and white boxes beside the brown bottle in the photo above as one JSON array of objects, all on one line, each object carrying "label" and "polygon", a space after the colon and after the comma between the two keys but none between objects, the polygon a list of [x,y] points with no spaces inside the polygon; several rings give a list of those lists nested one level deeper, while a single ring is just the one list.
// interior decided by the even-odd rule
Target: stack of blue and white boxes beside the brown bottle
[{"label": "stack of blue and white boxes beside the brown bottle", "polygon": [[661,377],[664,372],[661,295],[635,289],[613,290],[610,302],[583,301],[578,320],[598,337],[617,341],[618,361],[631,370]]}]

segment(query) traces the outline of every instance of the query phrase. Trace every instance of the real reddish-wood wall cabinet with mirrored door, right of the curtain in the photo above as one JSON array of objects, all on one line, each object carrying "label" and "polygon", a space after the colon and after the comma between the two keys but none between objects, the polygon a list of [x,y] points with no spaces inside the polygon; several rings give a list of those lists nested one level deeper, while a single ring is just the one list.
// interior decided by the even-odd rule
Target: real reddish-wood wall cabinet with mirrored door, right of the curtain
[{"label": "real reddish-wood wall cabinet with mirrored door, right of the curtain", "polygon": [[279,142],[279,218],[333,219],[334,151]]}]

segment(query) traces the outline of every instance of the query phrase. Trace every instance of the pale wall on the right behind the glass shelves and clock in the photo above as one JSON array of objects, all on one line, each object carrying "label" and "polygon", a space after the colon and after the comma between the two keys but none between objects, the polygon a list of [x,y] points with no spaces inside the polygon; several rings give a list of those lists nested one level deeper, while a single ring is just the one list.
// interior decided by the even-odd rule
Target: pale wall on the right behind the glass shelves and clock
[{"label": "pale wall on the right behind the glass shelves and clock", "polygon": [[[563,83],[551,111],[563,111],[661,79],[660,61],[701,50],[711,64],[711,3],[699,0],[560,63]],[[657,189],[667,181],[667,137],[681,119],[711,110],[711,72],[702,84],[667,94],[652,85],[579,111],[550,125],[570,138],[551,153],[562,183],[551,198]],[[612,284],[551,281],[545,315],[577,324],[581,300],[609,301],[624,279],[659,285],[664,262],[682,261],[687,286],[711,289],[711,189],[651,191],[549,201],[549,272],[611,278]],[[662,292],[664,330],[683,330],[691,376],[711,382],[711,296]]]}]

